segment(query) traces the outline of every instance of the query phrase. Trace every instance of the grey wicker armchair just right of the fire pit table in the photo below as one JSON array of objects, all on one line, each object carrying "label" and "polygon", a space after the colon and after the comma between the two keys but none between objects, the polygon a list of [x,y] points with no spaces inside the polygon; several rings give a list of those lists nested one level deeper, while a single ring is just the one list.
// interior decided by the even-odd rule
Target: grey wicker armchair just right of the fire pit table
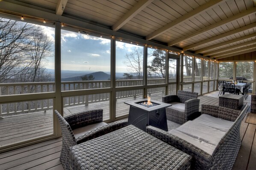
[{"label": "grey wicker armchair just right of the fire pit table", "polygon": [[167,95],[162,98],[164,103],[173,106],[166,108],[167,120],[177,124],[184,124],[191,120],[199,112],[199,99],[197,92],[186,92],[179,90],[178,95]]}]

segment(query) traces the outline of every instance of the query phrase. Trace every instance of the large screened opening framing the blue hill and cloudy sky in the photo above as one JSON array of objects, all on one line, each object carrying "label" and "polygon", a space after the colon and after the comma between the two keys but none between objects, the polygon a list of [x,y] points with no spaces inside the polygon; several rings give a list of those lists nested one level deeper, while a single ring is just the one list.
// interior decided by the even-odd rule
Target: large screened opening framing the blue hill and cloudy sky
[{"label": "large screened opening framing the blue hill and cloudy sky", "polygon": [[110,87],[110,39],[61,30],[61,40],[63,89]]}]

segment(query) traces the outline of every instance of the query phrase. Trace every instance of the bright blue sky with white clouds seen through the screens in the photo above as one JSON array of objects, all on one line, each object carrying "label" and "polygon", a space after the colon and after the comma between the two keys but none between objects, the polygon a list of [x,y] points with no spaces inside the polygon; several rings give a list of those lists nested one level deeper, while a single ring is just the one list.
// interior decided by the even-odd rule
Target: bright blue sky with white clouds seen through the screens
[{"label": "bright blue sky with white clouds seen through the screens", "polygon": [[[54,42],[54,28],[42,26],[42,29]],[[116,41],[116,72],[128,72],[122,61],[133,48],[143,47]],[[48,58],[45,66],[54,69],[54,57]],[[110,38],[62,30],[61,69],[110,72]]]}]

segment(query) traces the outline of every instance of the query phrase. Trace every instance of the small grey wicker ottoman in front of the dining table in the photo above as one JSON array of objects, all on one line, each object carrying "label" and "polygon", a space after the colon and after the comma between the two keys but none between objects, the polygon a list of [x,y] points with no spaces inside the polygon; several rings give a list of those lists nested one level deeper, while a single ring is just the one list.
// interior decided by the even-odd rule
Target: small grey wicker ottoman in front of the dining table
[{"label": "small grey wicker ottoman in front of the dining table", "polygon": [[219,97],[219,106],[239,110],[244,104],[243,95],[225,94]]}]

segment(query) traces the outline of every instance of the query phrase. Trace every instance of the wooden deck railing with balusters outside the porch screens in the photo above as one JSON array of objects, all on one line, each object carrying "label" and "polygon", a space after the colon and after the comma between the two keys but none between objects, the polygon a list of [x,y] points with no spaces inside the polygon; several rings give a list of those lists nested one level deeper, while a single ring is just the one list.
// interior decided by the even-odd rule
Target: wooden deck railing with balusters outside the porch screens
[{"label": "wooden deck railing with balusters outside the porch screens", "polygon": [[[169,79],[169,82],[175,82],[176,78]],[[164,78],[148,79],[148,84],[164,84]],[[143,85],[142,79],[135,80],[116,80],[116,86],[138,86]],[[65,81],[61,82],[61,90],[79,90],[79,89],[98,89],[110,87],[110,81]],[[176,85],[170,86],[174,92]],[[54,82],[27,82],[27,83],[3,83],[0,84],[0,95],[15,95],[15,94],[29,94],[40,92],[54,92]],[[148,90],[148,94],[162,92],[163,88],[153,88]],[[116,92],[116,98],[136,97],[143,95],[143,90],[130,90]],[[109,93],[72,96],[63,98],[64,107],[81,105],[88,105],[92,102],[109,100]],[[41,101],[23,101],[17,103],[0,104],[1,114],[15,114],[17,112],[30,112],[35,110],[47,110],[53,107],[53,100]]]}]

